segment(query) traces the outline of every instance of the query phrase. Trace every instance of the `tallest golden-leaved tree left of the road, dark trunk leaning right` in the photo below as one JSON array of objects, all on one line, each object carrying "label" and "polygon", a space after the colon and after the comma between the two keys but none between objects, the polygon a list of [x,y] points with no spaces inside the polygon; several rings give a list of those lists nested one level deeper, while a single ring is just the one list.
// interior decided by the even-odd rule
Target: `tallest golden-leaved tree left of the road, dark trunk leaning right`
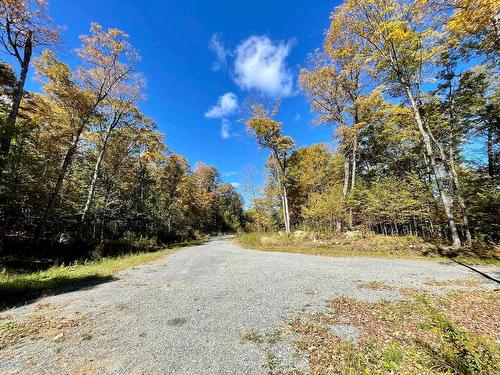
[{"label": "tallest golden-leaved tree left of the road, dark trunk leaning right", "polygon": [[[90,31],[90,36],[82,36],[83,46],[78,55],[83,65],[78,68],[76,75],[56,61],[50,53],[45,54],[45,59],[38,68],[40,74],[48,79],[46,90],[52,90],[62,106],[68,109],[75,130],[40,221],[37,241],[43,235],[47,219],[56,204],[82,132],[95,118],[96,111],[106,99],[119,98],[122,84],[129,79],[138,59],[123,31],[104,31],[96,23],[91,25]],[[63,72],[63,76],[59,72]]]}]

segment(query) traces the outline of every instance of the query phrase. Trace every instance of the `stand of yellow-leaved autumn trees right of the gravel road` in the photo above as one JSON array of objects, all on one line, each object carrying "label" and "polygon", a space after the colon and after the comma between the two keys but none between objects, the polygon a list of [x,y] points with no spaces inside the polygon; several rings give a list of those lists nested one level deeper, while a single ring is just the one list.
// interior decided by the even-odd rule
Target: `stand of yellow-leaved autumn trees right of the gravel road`
[{"label": "stand of yellow-leaved autumn trees right of the gravel road", "polygon": [[254,228],[498,243],[499,15],[493,0],[338,6],[299,78],[336,147],[295,149],[278,106],[253,105],[271,154]]}]

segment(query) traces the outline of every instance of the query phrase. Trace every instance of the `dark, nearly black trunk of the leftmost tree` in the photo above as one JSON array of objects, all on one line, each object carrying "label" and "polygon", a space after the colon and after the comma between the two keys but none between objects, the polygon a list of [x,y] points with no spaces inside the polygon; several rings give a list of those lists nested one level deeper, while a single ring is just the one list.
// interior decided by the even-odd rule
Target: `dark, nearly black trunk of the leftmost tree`
[{"label": "dark, nearly black trunk of the leftmost tree", "polygon": [[21,106],[21,101],[24,95],[24,84],[26,82],[26,76],[28,75],[32,52],[33,42],[32,33],[30,32],[24,45],[23,60],[22,62],[20,61],[21,72],[19,73],[19,80],[17,81],[16,89],[12,96],[12,107],[7,119],[5,120],[4,128],[2,129],[0,134],[0,177],[3,176],[7,156],[10,152],[12,138],[14,137],[16,131],[17,115],[19,114],[19,107]]}]

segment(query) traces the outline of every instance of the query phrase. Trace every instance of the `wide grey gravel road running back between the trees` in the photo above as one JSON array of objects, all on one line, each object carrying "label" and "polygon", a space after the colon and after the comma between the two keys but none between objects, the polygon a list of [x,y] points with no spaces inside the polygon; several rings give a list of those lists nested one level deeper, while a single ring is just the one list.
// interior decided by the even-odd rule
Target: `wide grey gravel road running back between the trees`
[{"label": "wide grey gravel road running back between the trees", "polygon": [[[272,333],[336,296],[398,297],[397,289],[361,283],[443,290],[429,279],[471,278],[484,281],[481,288],[497,287],[454,263],[260,252],[219,237],[125,270],[113,281],[1,312],[0,324],[52,323],[36,339],[0,350],[0,373],[261,374],[269,351],[282,369],[307,370],[294,355],[293,337],[263,348],[245,335]],[[335,329],[353,334],[352,327]]]}]

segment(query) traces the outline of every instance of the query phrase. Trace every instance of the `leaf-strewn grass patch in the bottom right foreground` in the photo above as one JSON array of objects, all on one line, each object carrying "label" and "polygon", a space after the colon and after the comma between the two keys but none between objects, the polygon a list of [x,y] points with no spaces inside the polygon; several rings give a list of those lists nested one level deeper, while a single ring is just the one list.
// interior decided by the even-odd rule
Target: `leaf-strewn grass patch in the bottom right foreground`
[{"label": "leaf-strewn grass patch in the bottom right foreground", "polygon": [[[413,295],[394,302],[336,298],[328,313],[290,322],[313,374],[498,374],[500,300],[494,291]],[[359,327],[355,342],[329,327]]]}]

